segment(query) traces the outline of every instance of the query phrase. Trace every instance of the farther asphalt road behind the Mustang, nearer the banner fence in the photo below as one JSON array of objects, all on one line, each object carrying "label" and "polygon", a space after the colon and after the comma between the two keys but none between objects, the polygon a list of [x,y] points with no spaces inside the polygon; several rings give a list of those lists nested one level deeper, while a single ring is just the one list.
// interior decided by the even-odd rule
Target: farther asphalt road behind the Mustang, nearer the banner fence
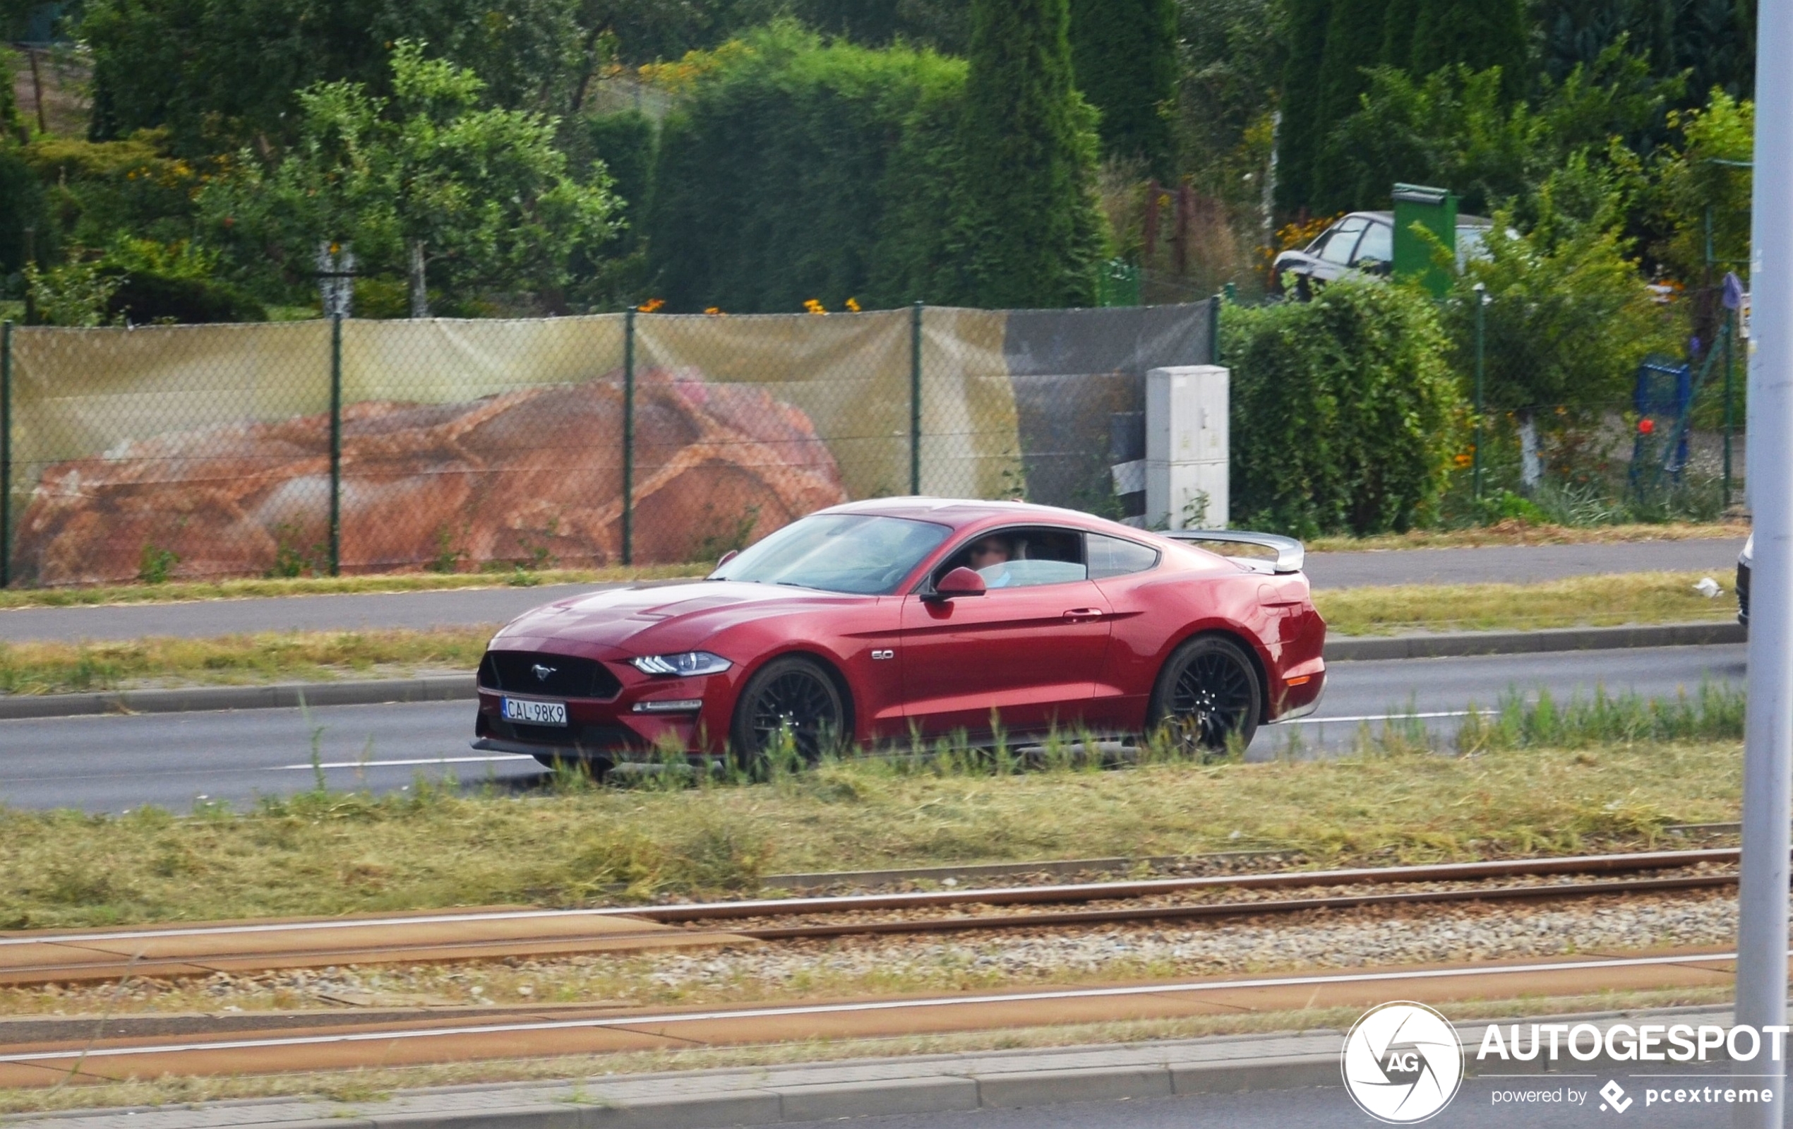
[{"label": "farther asphalt road behind the Mustang, nearer the banner fence", "polygon": [[[1354,588],[1364,584],[1531,582],[1610,572],[1702,570],[1712,573],[1728,590],[1728,577],[1736,573],[1741,548],[1741,539],[1705,539],[1316,552],[1307,557],[1307,575],[1316,588]],[[0,611],[0,642],[129,640],[145,634],[204,638],[242,631],[375,627],[421,631],[445,625],[502,624],[538,604],[602,588],[617,588],[617,584],[271,597],[108,608],[16,608]]]}]

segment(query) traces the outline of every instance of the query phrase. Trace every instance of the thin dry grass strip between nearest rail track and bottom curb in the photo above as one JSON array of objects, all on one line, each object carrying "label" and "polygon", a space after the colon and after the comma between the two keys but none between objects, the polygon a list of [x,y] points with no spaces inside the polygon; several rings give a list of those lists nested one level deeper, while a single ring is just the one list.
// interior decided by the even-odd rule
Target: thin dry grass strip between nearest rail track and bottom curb
[{"label": "thin dry grass strip between nearest rail track and bottom curb", "polygon": [[[1524,1000],[1474,1000],[1445,1007],[1454,1021],[1558,1016],[1599,1011],[1644,1011],[1732,1000],[1725,987],[1680,987],[1659,991],[1590,993],[1580,996],[1528,996]],[[767,1047],[692,1047],[552,1059],[506,1059],[495,1063],[450,1063],[437,1066],[371,1066],[362,1070],[274,1073],[238,1077],[174,1077],[65,1086],[61,1090],[0,1090],[0,1113],[45,1113],[118,1106],[174,1106],[258,1097],[321,1097],[368,1106],[389,1100],[394,1091],[423,1086],[468,1086],[481,1082],[558,1082],[602,1075],[660,1073],[669,1070],[719,1070],[832,1063],[845,1059],[896,1059],[925,1054],[970,1054],[1087,1045],[1137,1045],[1158,1039],[1262,1034],[1280,1030],[1345,1030],[1359,1009],[1329,1007],[1266,1011],[1182,1020],[1135,1020],[1124,1023],[1067,1023],[965,1034],[902,1036],[775,1043]],[[335,1111],[350,1116],[350,1109]],[[332,1116],[323,1113],[321,1116]]]}]

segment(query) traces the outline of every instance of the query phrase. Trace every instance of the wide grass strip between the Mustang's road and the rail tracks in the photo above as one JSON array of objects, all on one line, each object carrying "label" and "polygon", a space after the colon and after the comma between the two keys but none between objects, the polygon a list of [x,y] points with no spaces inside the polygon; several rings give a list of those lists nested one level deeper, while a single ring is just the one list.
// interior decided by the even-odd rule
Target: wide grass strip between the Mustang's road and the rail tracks
[{"label": "wide grass strip between the Mustang's road and the rail tracks", "polygon": [[[1603,704],[1601,704],[1603,702]],[[1739,812],[1741,695],[1510,702],[1438,756],[1402,724],[1332,760],[1097,771],[941,747],[766,783],[665,774],[536,796],[421,778],[235,812],[0,810],[0,928],[624,901],[769,873],[1277,848],[1320,866],[1635,848]],[[1547,745],[1544,742],[1549,742]],[[1044,763],[1044,767],[1042,767]]]}]

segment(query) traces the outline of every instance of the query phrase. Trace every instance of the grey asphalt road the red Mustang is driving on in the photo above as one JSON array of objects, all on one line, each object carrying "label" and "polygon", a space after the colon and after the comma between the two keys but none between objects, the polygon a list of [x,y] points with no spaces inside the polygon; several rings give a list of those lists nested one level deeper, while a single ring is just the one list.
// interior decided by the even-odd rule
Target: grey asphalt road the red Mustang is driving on
[{"label": "grey asphalt road the red Mustang is driving on", "polygon": [[[1348,745],[1390,713],[1416,713],[1449,735],[1465,710],[1495,704],[1503,694],[1535,697],[1547,688],[1563,701],[1598,686],[1671,695],[1702,681],[1741,685],[1743,656],[1739,643],[1338,663],[1321,710],[1264,728],[1250,758],[1277,756],[1295,737],[1309,754]],[[91,812],[140,805],[185,812],[201,797],[246,805],[316,787],[314,747],[332,789],[391,792],[446,776],[500,792],[543,785],[529,758],[468,749],[472,726],[472,702],[0,720],[0,803]]]}]

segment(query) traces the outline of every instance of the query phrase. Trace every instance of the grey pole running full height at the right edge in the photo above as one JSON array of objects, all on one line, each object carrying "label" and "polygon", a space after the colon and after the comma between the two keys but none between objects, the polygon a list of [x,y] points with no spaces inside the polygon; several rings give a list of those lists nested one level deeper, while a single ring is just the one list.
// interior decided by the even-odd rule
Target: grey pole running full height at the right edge
[{"label": "grey pole running full height at the right edge", "polygon": [[[1788,1014],[1788,849],[1793,789],[1793,0],[1761,0],[1755,39],[1755,183],[1750,231],[1750,448],[1755,564],[1743,742],[1743,880],[1737,889],[1737,1023]],[[1757,478],[1757,475],[1761,475]],[[1771,1045],[1773,1039],[1763,1039]],[[1771,1102],[1732,1106],[1739,1129],[1784,1125],[1786,1061],[1737,1073]]]}]

